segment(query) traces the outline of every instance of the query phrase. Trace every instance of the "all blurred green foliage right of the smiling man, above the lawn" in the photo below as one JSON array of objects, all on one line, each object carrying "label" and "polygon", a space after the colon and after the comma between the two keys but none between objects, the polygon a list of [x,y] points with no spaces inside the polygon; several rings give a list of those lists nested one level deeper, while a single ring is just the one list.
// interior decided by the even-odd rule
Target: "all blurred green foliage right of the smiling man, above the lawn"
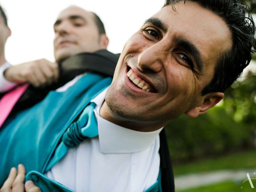
[{"label": "all blurred green foliage right of the smiling man, above the lawn", "polygon": [[[255,0],[245,0],[256,13]],[[256,56],[252,56],[256,60]],[[166,126],[174,162],[250,149],[256,137],[256,74],[226,90],[221,106],[196,119],[180,116]]]}]

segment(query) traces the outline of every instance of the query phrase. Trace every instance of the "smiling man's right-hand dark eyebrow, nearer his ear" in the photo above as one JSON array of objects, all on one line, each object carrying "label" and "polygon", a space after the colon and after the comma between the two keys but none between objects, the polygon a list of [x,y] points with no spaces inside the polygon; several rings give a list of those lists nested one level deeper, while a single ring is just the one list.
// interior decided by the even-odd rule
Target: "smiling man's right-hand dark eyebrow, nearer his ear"
[{"label": "smiling man's right-hand dark eyebrow, nearer his ear", "polygon": [[188,53],[190,53],[194,57],[194,59],[196,60],[197,68],[199,72],[202,73],[204,69],[204,64],[201,58],[201,54],[199,50],[196,48],[196,46],[182,38],[176,38],[175,43],[178,46],[181,46],[182,48],[184,48]]}]

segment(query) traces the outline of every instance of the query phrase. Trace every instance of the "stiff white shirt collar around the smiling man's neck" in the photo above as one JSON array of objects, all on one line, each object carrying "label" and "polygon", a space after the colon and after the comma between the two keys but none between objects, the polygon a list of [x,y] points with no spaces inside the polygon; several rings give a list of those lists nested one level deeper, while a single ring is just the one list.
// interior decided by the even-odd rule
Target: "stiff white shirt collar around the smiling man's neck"
[{"label": "stiff white shirt collar around the smiling man's neck", "polygon": [[98,120],[100,151],[102,153],[134,153],[149,148],[162,128],[152,132],[140,132],[105,120],[99,114],[106,91],[107,88],[91,100],[96,104],[94,113]]}]

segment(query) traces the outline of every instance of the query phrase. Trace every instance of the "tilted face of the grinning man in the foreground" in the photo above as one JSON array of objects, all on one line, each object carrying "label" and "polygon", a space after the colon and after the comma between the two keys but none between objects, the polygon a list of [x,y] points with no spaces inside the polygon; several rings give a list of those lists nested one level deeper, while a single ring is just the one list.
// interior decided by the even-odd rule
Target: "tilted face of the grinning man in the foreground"
[{"label": "tilted face of the grinning man in the foreground", "polygon": [[201,92],[231,36],[220,17],[194,2],[178,3],[176,12],[162,8],[124,46],[105,98],[112,115],[154,128],[183,113],[197,116],[220,95]]}]

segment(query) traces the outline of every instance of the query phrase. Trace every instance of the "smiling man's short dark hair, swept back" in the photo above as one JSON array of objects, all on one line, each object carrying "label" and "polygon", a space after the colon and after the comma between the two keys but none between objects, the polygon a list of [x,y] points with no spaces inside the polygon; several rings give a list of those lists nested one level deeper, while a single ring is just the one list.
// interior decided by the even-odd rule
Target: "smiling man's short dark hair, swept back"
[{"label": "smiling man's short dark hair, swept back", "polygon": [[[166,0],[164,6],[182,0]],[[224,92],[241,76],[242,71],[255,54],[255,26],[246,3],[240,0],[190,0],[220,16],[232,32],[232,48],[224,52],[217,61],[212,81],[204,87],[202,95],[210,92]],[[186,0],[184,0],[184,3]]]}]

